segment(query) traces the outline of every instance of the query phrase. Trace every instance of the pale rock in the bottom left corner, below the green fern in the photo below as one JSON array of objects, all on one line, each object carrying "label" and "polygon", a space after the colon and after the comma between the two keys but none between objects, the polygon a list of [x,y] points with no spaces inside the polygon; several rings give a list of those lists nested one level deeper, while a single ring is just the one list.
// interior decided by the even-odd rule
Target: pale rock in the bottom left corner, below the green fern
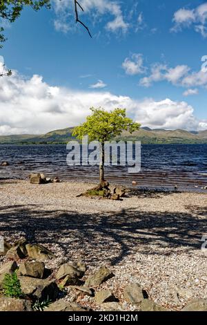
[{"label": "pale rock in the bottom left corner, below the green fern", "polygon": [[32,306],[29,300],[0,297],[0,311],[32,311]]}]

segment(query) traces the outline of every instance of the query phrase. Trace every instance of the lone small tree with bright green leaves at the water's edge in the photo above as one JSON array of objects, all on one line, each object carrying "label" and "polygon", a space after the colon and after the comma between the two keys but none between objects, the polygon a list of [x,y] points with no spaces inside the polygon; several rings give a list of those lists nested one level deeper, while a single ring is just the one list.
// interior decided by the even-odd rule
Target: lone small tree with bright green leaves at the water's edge
[{"label": "lone small tree with bright green leaves at the water's edge", "polygon": [[83,136],[88,136],[90,141],[98,140],[101,144],[101,159],[100,159],[100,178],[99,189],[105,187],[104,180],[104,142],[110,141],[116,136],[120,136],[122,131],[130,133],[137,131],[140,124],[133,122],[132,119],[126,117],[126,109],[115,109],[106,111],[105,109],[90,109],[92,115],[86,118],[86,122],[79,127],[75,127],[72,136],[77,136],[82,140]]}]

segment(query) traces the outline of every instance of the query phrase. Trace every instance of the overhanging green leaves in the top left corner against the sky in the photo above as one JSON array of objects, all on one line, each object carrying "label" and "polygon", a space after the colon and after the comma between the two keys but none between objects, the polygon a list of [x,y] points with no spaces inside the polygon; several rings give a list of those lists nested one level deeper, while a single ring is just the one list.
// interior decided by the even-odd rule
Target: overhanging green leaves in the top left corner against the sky
[{"label": "overhanging green leaves in the top left corner against the sky", "polygon": [[[50,8],[50,0],[0,0],[0,19],[6,19],[13,23],[21,15],[21,11],[26,6],[31,7],[35,11],[42,7]],[[0,43],[6,41],[3,35],[3,27],[0,27]],[[2,45],[0,45],[2,47]]]}]

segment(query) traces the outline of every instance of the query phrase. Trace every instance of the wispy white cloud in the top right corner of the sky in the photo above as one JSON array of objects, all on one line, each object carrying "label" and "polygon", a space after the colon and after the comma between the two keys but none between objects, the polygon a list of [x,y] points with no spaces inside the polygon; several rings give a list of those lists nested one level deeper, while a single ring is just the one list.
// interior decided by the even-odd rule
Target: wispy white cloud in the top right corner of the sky
[{"label": "wispy white cloud in the top right corner of the sky", "polygon": [[183,28],[190,28],[193,26],[196,32],[199,32],[204,38],[207,37],[207,2],[192,10],[180,8],[174,13],[172,19],[174,26],[172,31],[178,32]]}]

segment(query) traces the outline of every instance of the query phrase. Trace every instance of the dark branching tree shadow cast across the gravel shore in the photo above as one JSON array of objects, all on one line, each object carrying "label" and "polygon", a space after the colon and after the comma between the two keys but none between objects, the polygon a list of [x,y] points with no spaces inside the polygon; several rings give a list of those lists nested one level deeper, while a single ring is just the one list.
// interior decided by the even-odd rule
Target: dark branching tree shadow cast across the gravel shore
[{"label": "dark branching tree shadow cast across the gravel shore", "polygon": [[44,205],[4,206],[0,208],[0,234],[9,241],[24,236],[91,266],[100,261],[116,265],[137,252],[159,255],[175,253],[177,248],[198,250],[201,236],[207,233],[207,207],[194,212],[125,209],[81,214],[49,210]]}]

